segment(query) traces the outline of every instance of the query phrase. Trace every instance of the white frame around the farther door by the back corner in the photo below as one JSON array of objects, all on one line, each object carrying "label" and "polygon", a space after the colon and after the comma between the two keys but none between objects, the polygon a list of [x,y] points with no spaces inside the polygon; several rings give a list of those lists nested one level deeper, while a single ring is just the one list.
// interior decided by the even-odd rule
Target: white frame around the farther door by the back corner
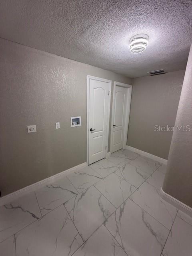
[{"label": "white frame around the farther door by the back corner", "polygon": [[112,147],[112,132],[113,132],[113,120],[114,120],[114,108],[115,108],[115,89],[116,86],[121,86],[124,88],[127,88],[128,94],[127,94],[127,103],[126,103],[126,110],[125,110],[125,116],[127,118],[125,119],[125,124],[124,124],[124,135],[123,135],[123,149],[126,148],[127,145],[127,134],[128,134],[128,125],[129,125],[129,117],[130,117],[130,106],[131,106],[131,94],[132,94],[132,85],[130,84],[124,84],[120,82],[114,81],[114,86],[113,86],[113,102],[112,102],[112,116],[111,116],[111,133],[110,133],[110,152],[111,152],[111,147]]}]

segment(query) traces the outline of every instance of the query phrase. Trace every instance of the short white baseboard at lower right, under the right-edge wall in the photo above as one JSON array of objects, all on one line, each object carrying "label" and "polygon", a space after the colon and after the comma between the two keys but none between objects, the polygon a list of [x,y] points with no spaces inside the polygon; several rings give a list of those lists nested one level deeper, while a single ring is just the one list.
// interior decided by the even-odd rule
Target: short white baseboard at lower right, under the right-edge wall
[{"label": "short white baseboard at lower right, under the right-edge wall", "polygon": [[173,206],[175,206],[178,210],[181,210],[182,212],[186,213],[188,216],[192,218],[192,208],[180,202],[176,198],[170,196],[169,194],[164,192],[162,188],[160,190],[160,197],[166,202],[168,202],[169,204],[172,204]]}]

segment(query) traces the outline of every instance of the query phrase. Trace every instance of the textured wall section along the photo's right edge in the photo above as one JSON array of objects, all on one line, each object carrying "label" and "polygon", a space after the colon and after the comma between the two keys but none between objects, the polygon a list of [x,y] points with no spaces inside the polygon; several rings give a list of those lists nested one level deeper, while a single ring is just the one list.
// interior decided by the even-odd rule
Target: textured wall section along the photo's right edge
[{"label": "textured wall section along the photo's right edge", "polygon": [[191,130],[173,133],[163,190],[192,207],[192,46],[175,122],[182,125],[190,125]]}]

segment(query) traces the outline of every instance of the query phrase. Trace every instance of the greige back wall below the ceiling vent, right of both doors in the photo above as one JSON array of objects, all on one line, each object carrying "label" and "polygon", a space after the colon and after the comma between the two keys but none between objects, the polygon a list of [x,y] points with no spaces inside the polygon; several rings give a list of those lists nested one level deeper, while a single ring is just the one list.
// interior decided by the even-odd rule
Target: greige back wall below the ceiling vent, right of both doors
[{"label": "greige back wall below the ceiling vent, right of both doors", "polygon": [[172,132],[154,126],[174,126],[184,70],[133,79],[127,145],[168,158]]}]

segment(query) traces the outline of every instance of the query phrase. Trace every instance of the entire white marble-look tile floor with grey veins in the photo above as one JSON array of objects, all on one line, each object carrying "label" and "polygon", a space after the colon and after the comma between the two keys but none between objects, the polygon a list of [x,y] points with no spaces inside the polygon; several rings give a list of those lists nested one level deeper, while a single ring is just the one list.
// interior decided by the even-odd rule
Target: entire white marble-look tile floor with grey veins
[{"label": "entire white marble-look tile floor with grey veins", "polygon": [[191,256],[192,218],[160,199],[166,165],[119,150],[0,207],[0,256]]}]

